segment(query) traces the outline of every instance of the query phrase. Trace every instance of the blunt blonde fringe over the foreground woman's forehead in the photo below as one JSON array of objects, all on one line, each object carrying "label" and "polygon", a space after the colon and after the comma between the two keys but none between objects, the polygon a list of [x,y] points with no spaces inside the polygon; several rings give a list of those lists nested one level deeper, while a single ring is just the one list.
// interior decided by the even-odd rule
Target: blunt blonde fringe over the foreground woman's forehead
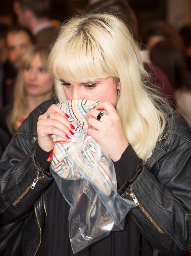
[{"label": "blunt blonde fringe over the foreground woman's forehead", "polygon": [[[79,41],[83,43],[76,43]],[[62,45],[62,48],[62,54],[60,49],[55,50],[52,55],[53,61],[49,65],[50,73],[56,79],[66,82],[87,82],[113,76],[113,72],[108,73],[110,68],[104,61],[101,47],[88,37],[79,35],[72,43],[70,42],[70,45]]]}]

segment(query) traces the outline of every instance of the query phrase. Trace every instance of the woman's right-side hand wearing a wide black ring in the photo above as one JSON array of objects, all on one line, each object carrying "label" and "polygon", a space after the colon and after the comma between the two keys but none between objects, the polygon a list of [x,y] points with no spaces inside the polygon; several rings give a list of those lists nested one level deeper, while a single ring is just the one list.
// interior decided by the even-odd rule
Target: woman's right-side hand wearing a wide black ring
[{"label": "woman's right-side hand wearing a wide black ring", "polygon": [[[104,109],[107,115],[103,115],[98,121],[96,118],[100,109]],[[88,134],[104,148],[113,161],[118,161],[129,143],[115,107],[108,101],[98,103],[87,112],[86,121],[89,126]]]}]

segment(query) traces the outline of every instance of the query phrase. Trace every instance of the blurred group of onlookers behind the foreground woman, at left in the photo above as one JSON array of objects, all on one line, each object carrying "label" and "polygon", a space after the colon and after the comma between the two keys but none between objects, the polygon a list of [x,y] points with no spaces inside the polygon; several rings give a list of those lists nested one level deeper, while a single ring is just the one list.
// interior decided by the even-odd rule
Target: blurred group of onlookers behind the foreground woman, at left
[{"label": "blurred group of onlookers behind the foreground woman, at left", "polygon": [[[16,0],[13,7],[17,24],[0,27],[5,53],[0,66],[1,152],[29,113],[53,97],[46,59],[61,25],[51,23],[49,1]],[[38,60],[35,55],[39,55]]]}]

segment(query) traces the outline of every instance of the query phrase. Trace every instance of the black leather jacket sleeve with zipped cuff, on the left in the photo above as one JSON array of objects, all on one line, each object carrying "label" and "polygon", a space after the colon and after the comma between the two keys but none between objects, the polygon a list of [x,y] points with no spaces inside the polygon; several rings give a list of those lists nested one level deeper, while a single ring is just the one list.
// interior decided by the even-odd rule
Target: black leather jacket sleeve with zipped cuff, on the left
[{"label": "black leather jacket sleeve with zipped cuff, on the left", "polygon": [[36,159],[36,109],[13,136],[0,162],[0,222],[21,218],[52,181]]}]

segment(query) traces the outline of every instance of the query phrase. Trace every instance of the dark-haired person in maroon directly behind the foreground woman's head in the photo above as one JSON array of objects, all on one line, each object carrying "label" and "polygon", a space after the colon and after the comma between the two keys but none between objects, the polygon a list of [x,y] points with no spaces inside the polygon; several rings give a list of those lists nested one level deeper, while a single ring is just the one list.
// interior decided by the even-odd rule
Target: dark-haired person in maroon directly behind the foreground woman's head
[{"label": "dark-haired person in maroon directly behind the foreground woman's head", "polygon": [[[135,15],[135,12],[130,7],[130,5],[125,0],[101,0],[96,1],[96,3],[87,5],[84,10],[85,13],[112,13],[121,18],[127,28],[130,30],[136,41],[140,41],[138,37],[138,21]],[[140,46],[140,44],[139,44]],[[158,86],[161,90],[161,93],[164,94],[164,97],[167,98],[170,105],[175,109],[175,97],[170,84],[169,79],[165,73],[158,67],[156,67],[149,58],[148,50],[142,49],[139,47],[140,54],[144,61],[145,69],[151,74],[151,84],[152,86]]]}]

